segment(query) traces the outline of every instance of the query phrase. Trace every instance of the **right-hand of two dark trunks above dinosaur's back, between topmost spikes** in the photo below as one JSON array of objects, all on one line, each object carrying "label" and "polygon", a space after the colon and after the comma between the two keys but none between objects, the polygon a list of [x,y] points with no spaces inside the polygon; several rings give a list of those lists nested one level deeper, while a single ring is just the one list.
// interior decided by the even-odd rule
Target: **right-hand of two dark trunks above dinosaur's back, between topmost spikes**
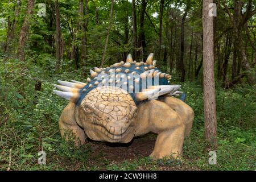
[{"label": "right-hand of two dark trunks above dinosaur's back, between topmost spikes", "polygon": [[142,0],[141,2],[141,14],[139,17],[139,46],[141,47],[141,59],[143,61],[144,57],[144,48],[146,48],[146,36],[144,33],[144,18],[145,18],[145,13],[146,13],[146,7],[147,7],[147,2],[146,0]]}]

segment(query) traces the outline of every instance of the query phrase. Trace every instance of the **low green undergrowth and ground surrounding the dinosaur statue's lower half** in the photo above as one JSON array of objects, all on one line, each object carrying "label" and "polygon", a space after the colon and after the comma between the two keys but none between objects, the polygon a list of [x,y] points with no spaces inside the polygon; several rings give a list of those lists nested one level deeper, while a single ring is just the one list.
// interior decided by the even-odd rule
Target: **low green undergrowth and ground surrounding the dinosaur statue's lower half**
[{"label": "low green undergrowth and ground surrounding the dinosaur statue's lower half", "polygon": [[[58,120],[67,101],[52,93],[57,80],[83,80],[80,71],[55,75],[18,60],[0,58],[0,170],[255,170],[256,85],[224,90],[216,82],[217,164],[210,165],[204,142],[203,90],[200,82],[180,83],[185,102],[195,111],[191,135],[184,140],[181,160],[148,157],[156,135],[134,138],[127,144],[86,139],[75,147],[60,137]],[[48,70],[48,71],[46,71]],[[35,80],[42,88],[35,92]],[[173,84],[177,84],[174,76]],[[46,165],[38,164],[38,152],[46,152]]]}]

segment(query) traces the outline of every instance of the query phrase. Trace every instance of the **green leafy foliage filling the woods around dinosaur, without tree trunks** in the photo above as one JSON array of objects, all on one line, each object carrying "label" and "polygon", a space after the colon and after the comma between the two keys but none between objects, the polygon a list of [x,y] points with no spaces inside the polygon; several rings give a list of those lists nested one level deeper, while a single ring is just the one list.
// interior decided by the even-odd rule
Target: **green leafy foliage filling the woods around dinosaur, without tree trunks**
[{"label": "green leafy foliage filling the woods around dinosaur, without tree trunks", "polygon": [[[245,2],[244,8],[247,6]],[[253,8],[256,3],[253,1]],[[148,157],[134,160],[107,160],[101,151],[93,155],[90,144],[74,146],[71,136],[69,142],[60,137],[58,120],[67,101],[52,93],[53,84],[57,80],[85,80],[89,69],[99,67],[105,46],[106,30],[109,27],[111,1],[88,1],[88,15],[78,16],[79,3],[76,0],[59,0],[61,47],[63,57],[60,61],[60,71],[55,75],[55,3],[54,1],[39,0],[36,3],[46,3],[46,17],[36,15],[38,6],[30,20],[27,32],[27,42],[24,46],[26,61],[17,60],[19,33],[26,16],[27,1],[21,1],[20,12],[15,17],[16,1],[2,0],[0,2],[0,169],[9,167],[11,156],[11,169],[15,170],[155,170],[155,169],[210,169],[210,170],[254,170],[255,164],[255,110],[256,86],[245,84],[242,78],[232,89],[221,88],[221,75],[216,79],[217,102],[217,165],[208,164],[209,148],[204,142],[204,105],[203,105],[203,73],[195,78],[196,68],[199,67],[202,57],[202,1],[165,1],[163,11],[162,53],[158,60],[158,67],[163,72],[171,72],[174,84],[181,84],[186,94],[188,105],[195,111],[191,136],[185,139],[183,159],[151,160]],[[229,7],[233,1],[226,2]],[[137,10],[137,38],[142,32],[140,27],[141,2],[135,1]],[[158,54],[159,49],[159,14],[160,1],[147,0],[144,17],[144,35],[146,48],[144,56],[149,52]],[[185,49],[184,66],[186,79],[193,80],[179,83],[180,78],[180,34],[181,18],[186,7],[189,9],[185,20]],[[222,74],[223,61],[226,54],[225,40],[230,34],[232,22],[222,6],[217,6],[218,18],[216,28],[216,61],[214,70]],[[233,9],[230,8],[231,13]],[[84,10],[85,13],[85,10]],[[86,27],[86,60],[79,64],[85,65],[75,69],[72,60],[72,47],[81,46],[82,31],[78,27],[81,20],[89,18]],[[4,53],[3,48],[9,28],[16,19],[16,28],[10,42],[9,52]],[[126,0],[115,1],[110,29],[109,44],[106,51],[105,65],[124,60],[127,53],[133,52],[132,7]],[[250,18],[248,25],[255,26],[255,16]],[[255,47],[256,28],[249,29],[249,38]],[[192,57],[189,60],[189,46],[193,34]],[[255,50],[249,45],[245,31],[242,32],[243,46],[252,72],[255,64]],[[246,45],[245,45],[246,44]],[[250,43],[251,44],[251,43]],[[233,45],[231,47],[233,49]],[[137,47],[141,52],[141,45]],[[166,57],[164,60],[164,54]],[[230,53],[227,82],[232,80],[232,57]],[[79,56],[81,52],[79,50]],[[197,57],[197,59],[196,59]],[[137,61],[141,57],[137,57]],[[172,66],[171,64],[172,63]],[[189,67],[189,63],[192,63]],[[241,64],[238,57],[237,64]],[[237,65],[237,67],[238,67]],[[240,65],[241,66],[241,65]],[[238,68],[237,68],[238,69]],[[188,70],[190,73],[188,73]],[[240,70],[237,70],[239,72]],[[240,71],[242,73],[242,70]],[[244,79],[244,80],[243,80]],[[35,91],[35,83],[41,82],[42,88]],[[151,135],[150,137],[155,137]],[[72,140],[73,139],[73,140]],[[47,165],[38,164],[38,151],[47,153]]]}]

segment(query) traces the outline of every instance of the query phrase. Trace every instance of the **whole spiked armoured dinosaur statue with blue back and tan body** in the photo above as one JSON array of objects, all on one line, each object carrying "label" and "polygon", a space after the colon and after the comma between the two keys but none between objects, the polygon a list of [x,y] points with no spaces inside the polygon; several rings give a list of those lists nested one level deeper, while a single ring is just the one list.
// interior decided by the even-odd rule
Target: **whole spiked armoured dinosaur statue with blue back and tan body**
[{"label": "whole spiked armoured dinosaur statue with blue back and tan body", "polygon": [[179,96],[180,85],[170,85],[171,76],[156,68],[153,53],[143,61],[129,54],[106,68],[90,70],[87,83],[58,81],[53,90],[69,100],[59,127],[61,136],[72,131],[84,144],[85,138],[104,142],[129,143],[149,132],[158,134],[151,157],[179,158],[184,137],[191,132],[194,113]]}]

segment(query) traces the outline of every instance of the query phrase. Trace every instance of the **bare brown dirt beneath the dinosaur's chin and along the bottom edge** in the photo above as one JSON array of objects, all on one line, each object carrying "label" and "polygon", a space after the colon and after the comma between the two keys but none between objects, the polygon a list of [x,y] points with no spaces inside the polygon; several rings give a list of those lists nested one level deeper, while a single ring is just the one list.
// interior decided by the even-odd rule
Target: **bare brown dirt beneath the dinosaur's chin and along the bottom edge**
[{"label": "bare brown dirt beneath the dinosaur's chin and along the bottom edge", "polygon": [[[106,143],[95,142],[86,139],[91,148],[93,155],[90,156],[90,164],[102,166],[103,161],[109,161],[114,164],[121,164],[125,161],[131,162],[149,156],[154,150],[157,135],[149,133],[141,137],[135,137],[130,143]],[[105,169],[104,165],[102,169]],[[144,166],[139,167],[144,170]],[[159,166],[159,170],[198,170],[184,164],[177,166]]]}]

